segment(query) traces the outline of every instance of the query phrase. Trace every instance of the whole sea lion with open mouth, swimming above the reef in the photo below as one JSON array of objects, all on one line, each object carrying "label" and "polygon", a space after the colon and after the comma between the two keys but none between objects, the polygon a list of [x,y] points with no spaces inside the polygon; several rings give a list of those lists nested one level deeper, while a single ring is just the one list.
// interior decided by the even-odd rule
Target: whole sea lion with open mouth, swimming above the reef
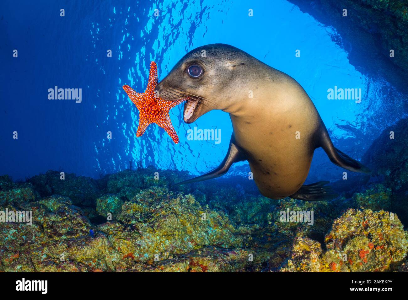
[{"label": "whole sea lion with open mouth, swimming above the reef", "polygon": [[234,162],[248,160],[259,191],[268,198],[329,200],[335,195],[328,182],[303,185],[318,147],[339,167],[369,172],[333,146],[315,105],[295,79],[233,46],[210,44],[190,51],[155,91],[163,100],[187,98],[186,123],[213,109],[231,117],[233,134],[220,166],[179,184],[222,176]]}]

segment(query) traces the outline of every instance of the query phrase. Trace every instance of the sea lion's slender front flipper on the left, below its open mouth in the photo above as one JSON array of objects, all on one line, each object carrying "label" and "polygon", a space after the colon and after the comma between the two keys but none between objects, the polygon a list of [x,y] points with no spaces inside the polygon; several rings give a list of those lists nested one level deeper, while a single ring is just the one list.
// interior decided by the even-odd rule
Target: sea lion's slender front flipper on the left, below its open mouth
[{"label": "sea lion's slender front flipper on the left, below its open mouth", "polygon": [[222,160],[221,164],[218,167],[209,171],[208,173],[205,173],[203,175],[200,175],[200,176],[197,176],[191,179],[184,180],[182,182],[178,182],[174,185],[192,183],[192,182],[203,181],[203,180],[220,177],[228,171],[228,169],[232,166],[234,162],[239,162],[241,160],[244,160],[244,156],[242,152],[239,150],[239,148],[233,143],[233,137],[232,137],[229,148],[228,148],[227,155],[225,156],[224,160]]}]

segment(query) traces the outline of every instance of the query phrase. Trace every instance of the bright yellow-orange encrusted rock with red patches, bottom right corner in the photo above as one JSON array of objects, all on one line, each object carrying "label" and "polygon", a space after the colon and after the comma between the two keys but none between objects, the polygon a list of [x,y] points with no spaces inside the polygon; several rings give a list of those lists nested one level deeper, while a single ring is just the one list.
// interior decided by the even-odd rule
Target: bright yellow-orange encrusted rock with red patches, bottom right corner
[{"label": "bright yellow-orange encrusted rock with red patches, bottom right corner", "polygon": [[280,271],[392,271],[404,262],[408,233],[386,211],[348,209],[326,236],[327,251],[309,238],[297,237]]}]

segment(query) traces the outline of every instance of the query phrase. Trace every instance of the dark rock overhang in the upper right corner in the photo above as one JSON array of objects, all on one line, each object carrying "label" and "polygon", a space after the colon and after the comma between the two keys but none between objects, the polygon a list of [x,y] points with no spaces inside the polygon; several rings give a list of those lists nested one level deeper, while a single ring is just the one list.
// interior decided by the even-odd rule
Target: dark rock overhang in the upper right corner
[{"label": "dark rock overhang in the upper right corner", "polygon": [[[290,2],[319,22],[335,28],[332,39],[344,47],[357,70],[369,77],[384,76],[399,89],[407,90],[408,4],[405,0]],[[343,9],[347,9],[347,16],[343,15]],[[390,50],[395,51],[393,56]]]}]

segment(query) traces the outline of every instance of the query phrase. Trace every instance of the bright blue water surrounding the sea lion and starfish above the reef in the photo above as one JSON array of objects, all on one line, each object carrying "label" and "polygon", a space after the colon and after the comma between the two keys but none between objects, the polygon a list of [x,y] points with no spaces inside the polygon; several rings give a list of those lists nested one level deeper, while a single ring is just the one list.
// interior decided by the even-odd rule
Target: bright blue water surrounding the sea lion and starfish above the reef
[{"label": "bright blue water surrounding the sea lion and starfish above the reef", "polygon": [[[170,114],[179,144],[155,124],[136,138],[138,112],[122,89],[144,91],[152,60],[160,80],[205,44],[231,44],[295,78],[336,147],[353,158],[407,114],[392,83],[350,64],[335,29],[284,0],[3,1],[0,7],[0,175],[14,180],[60,168],[99,177],[129,168],[129,160],[192,174],[217,166],[232,133],[228,114],[211,111],[185,124],[180,105]],[[49,100],[54,86],[81,88],[82,102]],[[328,100],[334,86],[361,89],[361,103]],[[187,140],[194,127],[221,129],[221,143]],[[338,179],[341,172],[318,149],[308,181]]]}]

